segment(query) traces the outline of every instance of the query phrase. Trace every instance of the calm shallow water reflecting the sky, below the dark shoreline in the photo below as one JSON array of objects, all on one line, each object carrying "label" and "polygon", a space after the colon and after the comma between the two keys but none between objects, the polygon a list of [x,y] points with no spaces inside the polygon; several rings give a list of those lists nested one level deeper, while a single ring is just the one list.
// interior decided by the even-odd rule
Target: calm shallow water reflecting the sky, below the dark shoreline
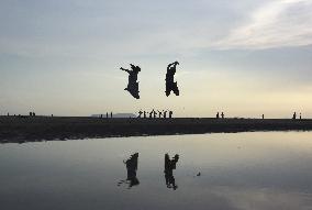
[{"label": "calm shallow water reflecting the sky, below the dark shoreline", "polygon": [[4,210],[312,209],[312,132],[2,144],[0,186]]}]

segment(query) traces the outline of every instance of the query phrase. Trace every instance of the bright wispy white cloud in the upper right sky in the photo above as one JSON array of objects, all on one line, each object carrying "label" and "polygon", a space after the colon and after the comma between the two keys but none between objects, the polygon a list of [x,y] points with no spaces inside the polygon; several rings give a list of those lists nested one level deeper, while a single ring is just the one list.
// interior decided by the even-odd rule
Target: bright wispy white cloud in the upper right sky
[{"label": "bright wispy white cloud in the upper right sky", "polygon": [[312,44],[312,1],[271,1],[250,15],[250,21],[230,32],[214,46],[221,48],[274,48]]}]

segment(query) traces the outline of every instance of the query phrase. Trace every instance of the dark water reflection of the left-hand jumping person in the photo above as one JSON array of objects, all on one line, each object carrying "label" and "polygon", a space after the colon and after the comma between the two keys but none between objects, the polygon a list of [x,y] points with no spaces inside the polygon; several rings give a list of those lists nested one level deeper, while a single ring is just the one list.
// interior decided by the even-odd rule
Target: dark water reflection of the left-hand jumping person
[{"label": "dark water reflection of the left-hand jumping person", "polygon": [[126,166],[126,179],[120,180],[118,183],[118,186],[121,186],[122,184],[126,184],[127,189],[131,189],[133,186],[140,185],[140,181],[136,177],[137,159],[138,159],[138,153],[134,153],[133,155],[130,156],[129,159],[123,161],[123,163]]}]

